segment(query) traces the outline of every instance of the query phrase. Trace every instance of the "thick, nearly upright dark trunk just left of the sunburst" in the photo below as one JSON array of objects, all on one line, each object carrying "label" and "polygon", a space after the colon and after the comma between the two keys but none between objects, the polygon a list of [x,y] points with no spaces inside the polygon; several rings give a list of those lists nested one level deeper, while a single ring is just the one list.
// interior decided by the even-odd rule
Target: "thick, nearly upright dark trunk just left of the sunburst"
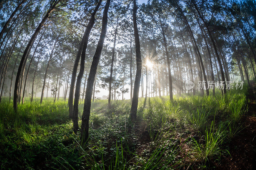
[{"label": "thick, nearly upright dark trunk just left of the sunburst", "polygon": [[141,55],[140,55],[140,37],[139,37],[138,27],[137,27],[136,12],[137,12],[137,4],[136,4],[136,0],[133,0],[132,20],[133,20],[133,30],[134,30],[135,50],[136,50],[136,76],[135,76],[134,87],[133,87],[132,106],[131,106],[131,113],[130,113],[130,117],[132,121],[135,120],[137,117],[138,98],[139,98],[139,91],[140,91],[140,78],[141,78],[141,69],[142,69]]}]

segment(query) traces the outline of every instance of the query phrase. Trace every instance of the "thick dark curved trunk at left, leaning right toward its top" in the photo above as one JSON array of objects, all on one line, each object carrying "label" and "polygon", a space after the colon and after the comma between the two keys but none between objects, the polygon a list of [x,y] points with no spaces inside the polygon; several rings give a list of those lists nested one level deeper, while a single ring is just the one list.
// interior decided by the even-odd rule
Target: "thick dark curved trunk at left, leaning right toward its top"
[{"label": "thick dark curved trunk at left, leaning right toward its top", "polygon": [[20,84],[20,77],[21,77],[21,73],[22,73],[22,68],[27,62],[28,53],[29,53],[31,47],[33,46],[33,43],[36,39],[37,34],[39,33],[40,29],[44,25],[44,22],[49,17],[50,13],[53,11],[53,9],[56,7],[56,5],[59,2],[60,2],[60,0],[55,0],[55,1],[52,2],[52,4],[50,5],[50,8],[47,11],[46,15],[44,16],[43,20],[40,22],[40,24],[37,26],[35,32],[31,36],[31,38],[28,42],[28,45],[27,45],[26,49],[24,50],[24,53],[21,57],[20,65],[19,65],[19,68],[18,68],[18,72],[17,72],[17,76],[16,76],[16,80],[15,80],[15,85],[14,85],[13,109],[14,109],[15,112],[17,112],[17,107],[18,107],[18,92],[19,92],[18,87],[19,87],[19,84]]}]

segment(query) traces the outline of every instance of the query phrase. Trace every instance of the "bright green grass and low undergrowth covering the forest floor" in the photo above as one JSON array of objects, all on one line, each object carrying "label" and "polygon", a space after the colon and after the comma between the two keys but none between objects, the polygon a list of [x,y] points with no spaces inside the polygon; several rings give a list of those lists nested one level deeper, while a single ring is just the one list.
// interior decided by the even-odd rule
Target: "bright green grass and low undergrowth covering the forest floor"
[{"label": "bright green grass and low undergrowth covering the forest floor", "polygon": [[[228,92],[228,102],[213,97],[150,98],[138,118],[129,121],[130,100],[92,103],[90,140],[79,145],[67,102],[29,99],[18,106],[0,104],[1,169],[193,169],[218,167],[230,156],[230,144],[244,129],[247,88]],[[114,101],[113,101],[114,102]],[[79,117],[83,103],[79,105]],[[79,121],[81,125],[81,121]]]}]

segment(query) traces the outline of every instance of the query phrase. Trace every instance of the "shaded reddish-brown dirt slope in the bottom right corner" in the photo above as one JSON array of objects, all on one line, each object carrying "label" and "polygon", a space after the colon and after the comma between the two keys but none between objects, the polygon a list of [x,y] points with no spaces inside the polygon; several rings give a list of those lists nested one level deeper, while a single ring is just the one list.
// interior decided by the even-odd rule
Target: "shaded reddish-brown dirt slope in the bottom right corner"
[{"label": "shaded reddish-brown dirt slope in the bottom right corner", "polygon": [[216,169],[256,169],[256,84],[249,89],[248,112],[243,116],[244,129],[229,144],[230,156],[222,156]]}]

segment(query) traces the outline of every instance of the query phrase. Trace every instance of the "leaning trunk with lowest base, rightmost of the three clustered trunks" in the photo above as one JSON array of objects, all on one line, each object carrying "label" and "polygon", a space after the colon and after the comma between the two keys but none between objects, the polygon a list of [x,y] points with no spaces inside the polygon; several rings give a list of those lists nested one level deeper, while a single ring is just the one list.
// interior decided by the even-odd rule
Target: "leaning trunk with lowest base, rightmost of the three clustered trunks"
[{"label": "leaning trunk with lowest base, rightmost of the three clustered trunks", "polygon": [[81,144],[84,144],[89,137],[89,117],[90,117],[90,111],[91,111],[92,87],[93,87],[93,82],[95,79],[98,63],[100,61],[100,54],[103,48],[105,35],[107,32],[109,4],[110,4],[110,0],[107,0],[105,9],[103,11],[100,38],[98,41],[95,54],[92,59],[92,65],[91,65],[90,73],[87,79],[85,99],[84,99],[84,111],[82,115]]}]

